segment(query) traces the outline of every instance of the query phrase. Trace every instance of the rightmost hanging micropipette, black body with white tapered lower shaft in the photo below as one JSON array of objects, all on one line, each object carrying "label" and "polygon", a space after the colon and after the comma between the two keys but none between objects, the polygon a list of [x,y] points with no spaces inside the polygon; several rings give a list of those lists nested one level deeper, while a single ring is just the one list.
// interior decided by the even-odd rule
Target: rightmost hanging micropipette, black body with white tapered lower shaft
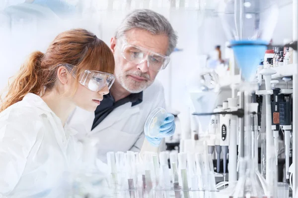
[{"label": "rightmost hanging micropipette, black body with white tapered lower shaft", "polygon": [[286,180],[289,183],[290,180],[290,131],[292,130],[291,124],[291,100],[293,90],[288,89],[288,82],[291,78],[284,77],[286,81],[287,89],[281,90],[281,101],[280,101],[280,126],[284,132],[284,143],[285,143],[285,161],[286,161]]}]

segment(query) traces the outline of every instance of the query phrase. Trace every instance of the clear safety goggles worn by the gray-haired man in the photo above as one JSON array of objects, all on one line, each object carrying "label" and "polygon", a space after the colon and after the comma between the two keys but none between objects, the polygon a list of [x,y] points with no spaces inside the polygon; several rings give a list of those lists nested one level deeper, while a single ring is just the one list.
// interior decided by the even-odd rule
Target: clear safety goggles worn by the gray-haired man
[{"label": "clear safety goggles worn by the gray-haired man", "polygon": [[148,68],[153,71],[164,69],[170,61],[169,56],[164,56],[139,46],[130,45],[125,40],[122,47],[122,56],[127,61],[135,64],[140,64],[147,60]]}]

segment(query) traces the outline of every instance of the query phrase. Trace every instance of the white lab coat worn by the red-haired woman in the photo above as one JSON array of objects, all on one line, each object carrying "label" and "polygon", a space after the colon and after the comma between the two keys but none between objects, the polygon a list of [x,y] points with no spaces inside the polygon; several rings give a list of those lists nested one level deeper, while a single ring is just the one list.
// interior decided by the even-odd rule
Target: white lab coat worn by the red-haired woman
[{"label": "white lab coat worn by the red-haired woman", "polygon": [[64,197],[63,176],[81,164],[74,134],[31,93],[1,112],[0,198]]}]

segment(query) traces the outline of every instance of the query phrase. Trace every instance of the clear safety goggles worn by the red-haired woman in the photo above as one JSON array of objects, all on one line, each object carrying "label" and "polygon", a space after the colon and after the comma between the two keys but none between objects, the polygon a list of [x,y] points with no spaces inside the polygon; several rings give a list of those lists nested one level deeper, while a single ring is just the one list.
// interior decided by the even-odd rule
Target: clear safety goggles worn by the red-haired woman
[{"label": "clear safety goggles worn by the red-haired woman", "polygon": [[[66,66],[66,68],[75,77],[76,69],[74,65],[65,63],[58,66]],[[93,92],[99,92],[106,86],[110,89],[114,81],[115,76],[113,74],[92,70],[85,70],[78,77],[78,82]]]}]

